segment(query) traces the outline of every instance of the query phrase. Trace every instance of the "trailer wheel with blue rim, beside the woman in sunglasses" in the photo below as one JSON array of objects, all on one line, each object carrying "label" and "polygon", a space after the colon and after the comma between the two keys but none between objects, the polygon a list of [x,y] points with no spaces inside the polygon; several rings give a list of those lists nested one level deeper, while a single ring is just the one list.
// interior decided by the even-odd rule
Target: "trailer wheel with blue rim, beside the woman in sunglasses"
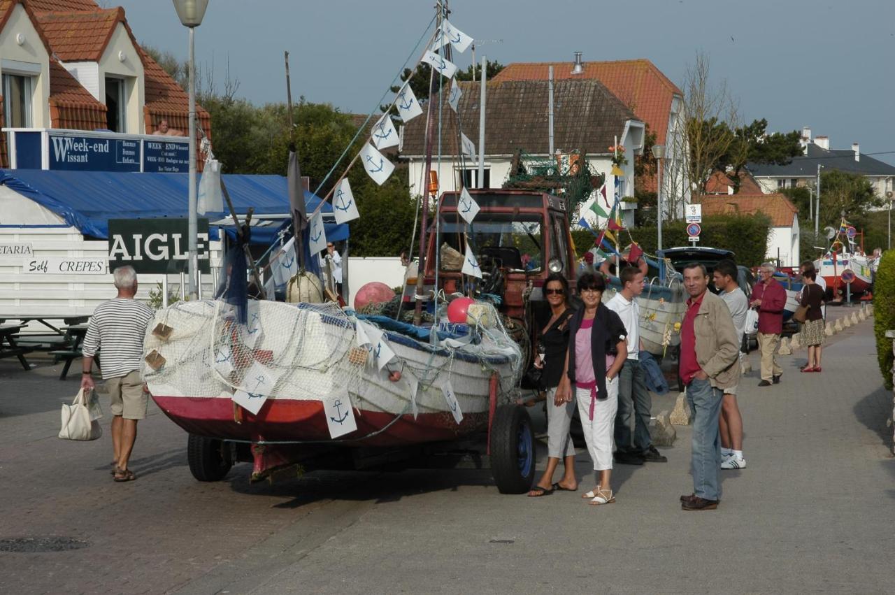
[{"label": "trailer wheel with blue rim, beside the woman in sunglasses", "polygon": [[523,407],[498,407],[491,426],[491,474],[501,494],[522,494],[534,480],[532,419]]}]

